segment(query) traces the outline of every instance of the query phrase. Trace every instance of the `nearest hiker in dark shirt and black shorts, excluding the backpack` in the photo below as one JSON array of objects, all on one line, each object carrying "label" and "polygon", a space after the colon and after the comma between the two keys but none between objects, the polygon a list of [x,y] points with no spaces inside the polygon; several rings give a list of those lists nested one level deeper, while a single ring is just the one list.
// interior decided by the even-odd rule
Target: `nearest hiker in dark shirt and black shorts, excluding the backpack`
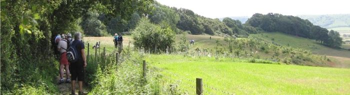
[{"label": "nearest hiker in dark shirt and black shorts, excluding the backpack", "polygon": [[84,80],[84,67],[86,67],[86,58],[84,52],[84,44],[81,40],[81,33],[75,32],[74,39],[71,42],[71,46],[75,46],[77,49],[77,61],[70,63],[70,72],[71,72],[71,94],[75,94],[75,81],[76,78],[78,80],[79,85],[79,94],[83,94],[82,92],[82,81]]}]

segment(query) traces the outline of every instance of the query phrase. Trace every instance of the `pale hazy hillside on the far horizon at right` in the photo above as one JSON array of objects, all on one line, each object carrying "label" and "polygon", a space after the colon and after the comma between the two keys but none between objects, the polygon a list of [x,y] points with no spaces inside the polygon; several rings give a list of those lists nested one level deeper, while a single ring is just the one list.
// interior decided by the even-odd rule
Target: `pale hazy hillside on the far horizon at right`
[{"label": "pale hazy hillside on the far horizon at right", "polygon": [[350,27],[350,14],[297,15],[324,28]]}]

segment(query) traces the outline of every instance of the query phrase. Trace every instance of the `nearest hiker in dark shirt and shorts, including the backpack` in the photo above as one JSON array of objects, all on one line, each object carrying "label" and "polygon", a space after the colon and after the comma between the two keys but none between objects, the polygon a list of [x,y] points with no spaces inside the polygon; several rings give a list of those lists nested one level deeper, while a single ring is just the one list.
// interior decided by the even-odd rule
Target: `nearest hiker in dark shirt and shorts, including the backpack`
[{"label": "nearest hiker in dark shirt and shorts, including the backpack", "polygon": [[71,72],[71,94],[75,94],[75,81],[78,80],[79,94],[83,94],[82,81],[84,80],[84,67],[86,67],[86,58],[84,52],[84,43],[81,41],[81,33],[74,33],[74,40],[68,49],[68,61],[70,62]]}]

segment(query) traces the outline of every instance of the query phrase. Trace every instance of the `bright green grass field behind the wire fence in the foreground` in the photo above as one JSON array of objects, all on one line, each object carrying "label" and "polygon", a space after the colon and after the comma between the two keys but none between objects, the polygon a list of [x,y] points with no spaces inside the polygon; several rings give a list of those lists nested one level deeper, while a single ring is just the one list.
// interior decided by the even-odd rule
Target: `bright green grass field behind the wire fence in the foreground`
[{"label": "bright green grass field behind the wire fence in the foreground", "polygon": [[180,90],[189,94],[195,92],[191,86],[195,87],[197,77],[203,79],[204,94],[227,94],[220,90],[233,94],[350,93],[350,69],[347,68],[246,63],[227,58],[165,54],[151,54],[145,60],[162,69],[162,79],[179,84]]}]

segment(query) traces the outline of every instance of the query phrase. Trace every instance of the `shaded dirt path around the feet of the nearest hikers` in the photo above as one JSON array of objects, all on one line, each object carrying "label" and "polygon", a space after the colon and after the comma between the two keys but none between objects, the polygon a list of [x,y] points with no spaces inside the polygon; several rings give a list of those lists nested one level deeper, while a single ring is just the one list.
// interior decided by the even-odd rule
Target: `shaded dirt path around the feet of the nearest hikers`
[{"label": "shaded dirt path around the feet of the nearest hikers", "polygon": [[[65,80],[65,72],[64,72],[63,78]],[[59,74],[58,74],[56,80],[59,81]],[[70,94],[71,93],[71,83],[66,83],[66,82],[61,83],[61,84],[57,83],[57,86],[58,86],[60,94]],[[82,90],[85,92],[89,92],[86,85],[82,86]],[[78,94],[78,91],[79,91],[79,87],[78,87],[78,84],[76,82],[75,83],[75,94]]]}]

